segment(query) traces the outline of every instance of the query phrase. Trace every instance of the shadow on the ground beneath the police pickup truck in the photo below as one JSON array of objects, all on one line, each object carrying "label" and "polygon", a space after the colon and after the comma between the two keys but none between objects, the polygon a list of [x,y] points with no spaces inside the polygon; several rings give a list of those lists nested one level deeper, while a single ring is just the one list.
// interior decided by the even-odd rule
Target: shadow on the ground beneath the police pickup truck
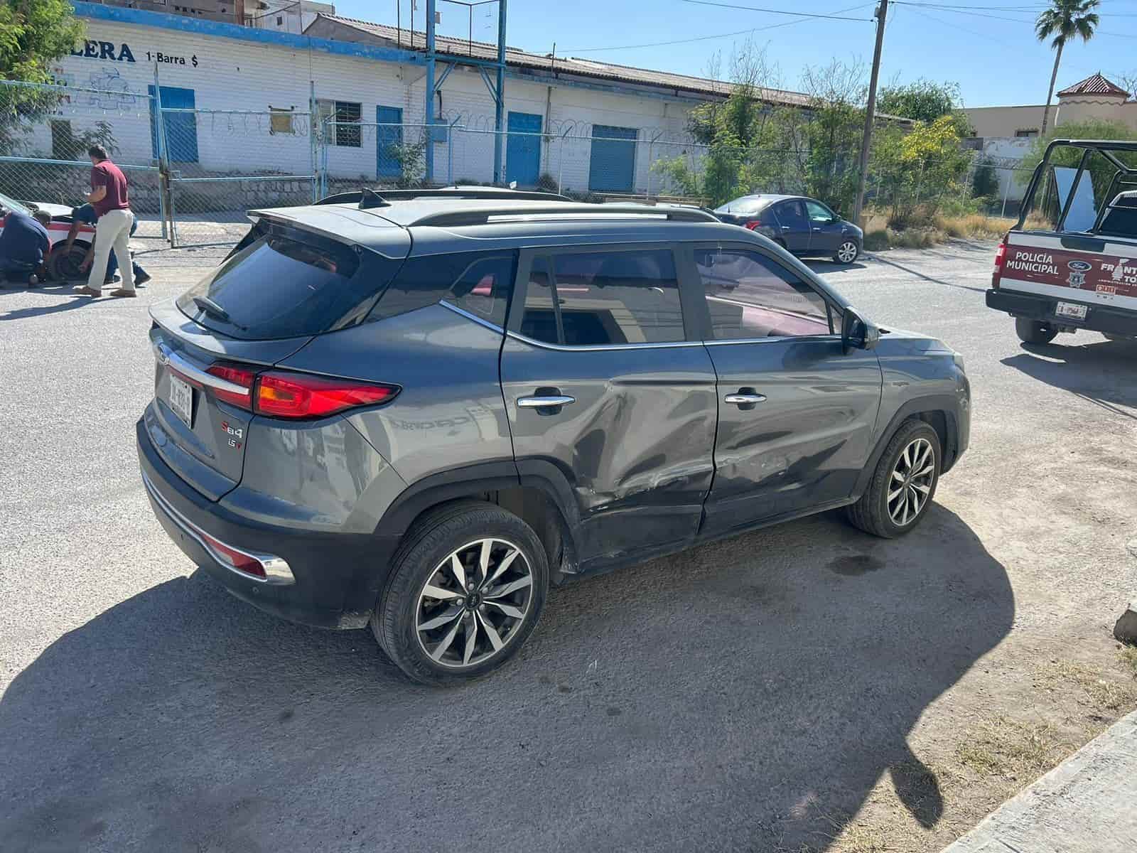
[{"label": "shadow on the ground beneath the police pickup truck", "polygon": [[1002,363],[1061,388],[1107,412],[1137,421],[1137,340],[1084,346],[1060,334],[1055,343],[1023,343]]}]

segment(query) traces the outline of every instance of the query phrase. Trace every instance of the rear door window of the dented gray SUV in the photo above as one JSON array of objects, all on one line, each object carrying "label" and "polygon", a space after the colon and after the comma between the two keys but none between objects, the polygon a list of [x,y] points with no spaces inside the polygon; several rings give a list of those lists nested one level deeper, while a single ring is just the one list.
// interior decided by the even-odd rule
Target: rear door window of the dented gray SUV
[{"label": "rear door window of the dented gray SUV", "polygon": [[571,347],[683,340],[671,250],[607,250],[534,259],[521,331],[536,340]]}]

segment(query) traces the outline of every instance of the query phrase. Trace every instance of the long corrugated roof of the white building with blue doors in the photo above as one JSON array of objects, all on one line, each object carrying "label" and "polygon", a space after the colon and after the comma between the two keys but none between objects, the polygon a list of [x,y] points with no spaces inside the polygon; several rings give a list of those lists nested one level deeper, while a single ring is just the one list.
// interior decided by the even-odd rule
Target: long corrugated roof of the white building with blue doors
[{"label": "long corrugated roof of the white building with blue doors", "polygon": [[[367,20],[348,18],[341,15],[325,15],[321,13],[316,20],[330,20],[343,26],[366,33],[376,39],[389,41],[391,45],[401,44],[412,50],[426,49],[426,35],[422,32],[409,30],[397,30],[387,24],[373,24]],[[315,24],[309,24],[312,27]],[[470,41],[466,39],[455,39],[449,35],[437,35],[434,48],[439,53],[451,56],[470,56],[478,59],[497,59],[497,45],[482,41]],[[543,72],[556,72],[559,74],[576,74],[586,77],[598,77],[600,80],[613,80],[622,83],[634,83],[638,85],[649,85],[661,89],[670,89],[682,92],[697,92],[699,94],[729,96],[733,91],[733,85],[721,80],[709,80],[707,77],[694,77],[687,74],[672,74],[670,72],[657,72],[649,68],[636,68],[629,65],[615,65],[613,63],[599,63],[595,59],[581,59],[578,57],[551,57],[549,55],[530,53],[520,48],[506,45],[506,65],[515,68],[533,68]],[[785,89],[763,89],[763,100],[772,103],[786,103],[794,106],[805,106],[808,97],[802,92],[791,92]]]}]

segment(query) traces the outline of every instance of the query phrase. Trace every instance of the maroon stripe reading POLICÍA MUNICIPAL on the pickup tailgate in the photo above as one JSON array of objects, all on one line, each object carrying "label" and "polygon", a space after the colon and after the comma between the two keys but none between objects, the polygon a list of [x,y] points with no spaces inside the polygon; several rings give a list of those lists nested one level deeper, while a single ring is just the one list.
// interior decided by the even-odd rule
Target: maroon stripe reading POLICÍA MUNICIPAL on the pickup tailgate
[{"label": "maroon stripe reading POLIC\u00cdA MUNICIPAL on the pickup tailgate", "polygon": [[1137,297],[1137,252],[1128,258],[1007,246],[1003,276],[1090,293]]}]

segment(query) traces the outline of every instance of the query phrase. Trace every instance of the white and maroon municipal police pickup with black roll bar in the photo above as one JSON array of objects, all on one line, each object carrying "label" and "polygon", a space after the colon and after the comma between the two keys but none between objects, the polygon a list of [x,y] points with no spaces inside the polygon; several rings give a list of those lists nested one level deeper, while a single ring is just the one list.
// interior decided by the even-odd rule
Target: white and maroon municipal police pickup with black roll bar
[{"label": "white and maroon municipal police pickup with black roll bar", "polygon": [[[1062,149],[1073,150],[1076,168],[1053,165]],[[1079,329],[1137,337],[1137,166],[1126,159],[1137,164],[1137,141],[1047,146],[987,291],[987,307],[1014,317],[1023,341]]]}]

